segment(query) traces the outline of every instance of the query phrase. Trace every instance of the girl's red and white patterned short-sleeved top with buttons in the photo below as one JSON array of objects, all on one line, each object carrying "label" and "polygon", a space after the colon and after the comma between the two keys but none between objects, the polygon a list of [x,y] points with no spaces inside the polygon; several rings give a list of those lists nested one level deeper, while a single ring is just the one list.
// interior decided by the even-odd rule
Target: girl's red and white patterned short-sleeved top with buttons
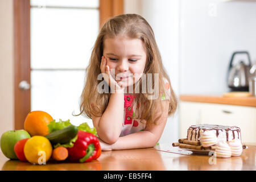
[{"label": "girl's red and white patterned short-sleeved top with buttons", "polygon": [[[170,100],[171,90],[170,90],[170,84],[164,78],[164,88],[165,88],[165,94],[160,94],[160,97],[162,100]],[[141,104],[138,104],[133,102],[134,96],[133,95],[126,95],[124,97],[125,105],[124,105],[124,114],[123,114],[123,127],[122,132],[120,134],[120,137],[123,137],[125,135],[135,133],[138,131],[143,131],[146,128],[146,121],[144,119],[134,119],[140,118],[142,114],[142,107]]]}]

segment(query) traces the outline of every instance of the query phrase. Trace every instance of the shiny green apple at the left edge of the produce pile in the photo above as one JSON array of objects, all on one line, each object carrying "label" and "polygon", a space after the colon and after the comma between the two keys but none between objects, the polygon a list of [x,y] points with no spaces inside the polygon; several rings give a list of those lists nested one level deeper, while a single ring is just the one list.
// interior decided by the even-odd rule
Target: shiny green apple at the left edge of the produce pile
[{"label": "shiny green apple at the left edge of the produce pile", "polygon": [[0,139],[1,150],[6,158],[18,159],[14,152],[14,146],[16,142],[24,138],[30,138],[30,134],[25,130],[11,130],[2,134]]}]

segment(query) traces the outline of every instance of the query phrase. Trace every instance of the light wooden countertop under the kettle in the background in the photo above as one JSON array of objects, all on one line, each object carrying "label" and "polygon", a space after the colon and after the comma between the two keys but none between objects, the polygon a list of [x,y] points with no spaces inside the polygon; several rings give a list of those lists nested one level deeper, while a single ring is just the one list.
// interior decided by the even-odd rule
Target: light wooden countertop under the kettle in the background
[{"label": "light wooden countertop under the kettle in the background", "polygon": [[256,97],[180,95],[180,101],[256,107]]}]

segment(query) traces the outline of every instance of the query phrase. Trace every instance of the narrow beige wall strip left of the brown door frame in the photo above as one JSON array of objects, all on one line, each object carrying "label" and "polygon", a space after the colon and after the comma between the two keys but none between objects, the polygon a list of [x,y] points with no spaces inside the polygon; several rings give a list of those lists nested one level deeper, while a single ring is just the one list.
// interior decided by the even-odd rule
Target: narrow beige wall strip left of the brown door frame
[{"label": "narrow beige wall strip left of the brown door frame", "polygon": [[13,1],[0,1],[0,135],[14,129]]}]

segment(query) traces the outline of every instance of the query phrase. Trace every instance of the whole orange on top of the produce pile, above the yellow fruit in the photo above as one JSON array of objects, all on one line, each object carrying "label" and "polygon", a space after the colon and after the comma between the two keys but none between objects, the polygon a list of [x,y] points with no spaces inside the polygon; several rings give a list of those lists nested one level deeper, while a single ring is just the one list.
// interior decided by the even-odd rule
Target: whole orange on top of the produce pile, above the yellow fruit
[{"label": "whole orange on top of the produce pile, above the yellow fruit", "polygon": [[48,133],[48,124],[53,120],[51,115],[44,111],[31,111],[28,113],[25,122],[24,129],[31,135],[45,136]]}]

